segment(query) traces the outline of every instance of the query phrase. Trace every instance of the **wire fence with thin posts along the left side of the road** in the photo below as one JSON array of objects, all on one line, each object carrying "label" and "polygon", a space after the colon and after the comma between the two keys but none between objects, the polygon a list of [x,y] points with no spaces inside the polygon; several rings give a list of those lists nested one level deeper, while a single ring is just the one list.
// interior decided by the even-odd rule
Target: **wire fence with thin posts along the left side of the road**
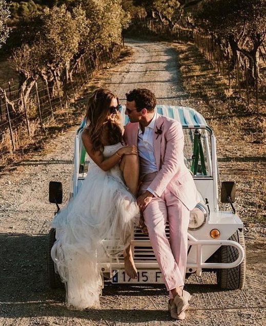
[{"label": "wire fence with thin posts along the left side of the road", "polygon": [[59,111],[68,114],[70,103],[86,90],[95,73],[113,63],[120,52],[117,44],[97,47],[79,60],[71,78],[63,78],[62,71],[53,85],[32,80],[28,93],[13,80],[0,85],[0,158],[29,143],[36,129],[44,130],[49,119],[56,121]]}]

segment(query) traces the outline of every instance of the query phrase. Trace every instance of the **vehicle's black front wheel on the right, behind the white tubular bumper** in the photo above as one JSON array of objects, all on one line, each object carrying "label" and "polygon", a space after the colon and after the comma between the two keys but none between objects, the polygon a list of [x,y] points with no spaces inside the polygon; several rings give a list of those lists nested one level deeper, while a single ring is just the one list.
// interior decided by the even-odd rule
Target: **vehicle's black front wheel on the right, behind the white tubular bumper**
[{"label": "vehicle's black front wheel on the right, behind the white tubular bumper", "polygon": [[[217,269],[217,284],[221,289],[243,289],[245,283],[245,240],[243,231],[237,230],[228,240],[238,242],[244,249],[244,259],[234,268]],[[232,246],[221,246],[220,263],[232,263],[238,258],[238,250]]]}]

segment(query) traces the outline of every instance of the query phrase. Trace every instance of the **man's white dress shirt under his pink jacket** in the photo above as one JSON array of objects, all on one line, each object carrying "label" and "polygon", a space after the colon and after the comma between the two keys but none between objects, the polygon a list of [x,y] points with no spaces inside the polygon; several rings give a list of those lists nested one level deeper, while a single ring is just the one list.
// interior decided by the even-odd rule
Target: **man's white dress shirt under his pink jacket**
[{"label": "man's white dress shirt under his pink jacket", "polygon": [[[156,118],[157,115],[155,112],[152,121],[145,127],[144,133],[142,133],[140,127],[138,128],[138,157],[140,164],[140,176],[158,171],[153,147],[153,134]],[[157,197],[157,194],[150,188],[147,190]]]}]

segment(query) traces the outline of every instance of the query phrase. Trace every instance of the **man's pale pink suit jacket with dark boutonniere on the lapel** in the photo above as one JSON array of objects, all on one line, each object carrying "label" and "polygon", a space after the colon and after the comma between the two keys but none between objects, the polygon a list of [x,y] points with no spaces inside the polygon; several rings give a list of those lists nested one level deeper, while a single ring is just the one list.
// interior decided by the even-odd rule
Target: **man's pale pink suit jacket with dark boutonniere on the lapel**
[{"label": "man's pale pink suit jacket with dark boutonniere on the lapel", "polygon": [[[125,141],[137,146],[138,122],[125,127]],[[158,129],[161,133],[158,135]],[[189,209],[199,202],[193,177],[185,165],[183,156],[184,135],[181,124],[157,114],[154,125],[153,146],[158,173],[150,188],[161,196],[168,189]]]}]

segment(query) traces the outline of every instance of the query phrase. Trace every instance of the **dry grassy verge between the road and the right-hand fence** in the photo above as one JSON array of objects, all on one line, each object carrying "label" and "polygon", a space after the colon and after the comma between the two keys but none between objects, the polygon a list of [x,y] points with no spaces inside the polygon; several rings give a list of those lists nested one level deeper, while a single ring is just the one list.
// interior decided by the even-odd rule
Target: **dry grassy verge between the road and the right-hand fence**
[{"label": "dry grassy verge between the road and the right-hand fence", "polygon": [[[213,128],[222,180],[236,181],[236,208],[246,225],[266,218],[266,105],[239,97],[192,44],[173,44],[183,88]],[[266,80],[266,75],[265,75]],[[263,88],[261,87],[261,90]]]}]

